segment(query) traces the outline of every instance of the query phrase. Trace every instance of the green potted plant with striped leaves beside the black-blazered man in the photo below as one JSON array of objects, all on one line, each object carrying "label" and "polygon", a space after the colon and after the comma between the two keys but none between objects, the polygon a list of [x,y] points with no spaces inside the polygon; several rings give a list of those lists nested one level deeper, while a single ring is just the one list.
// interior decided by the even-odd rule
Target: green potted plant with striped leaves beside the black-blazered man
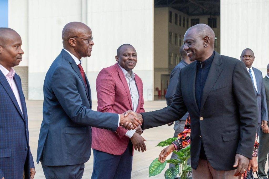
[{"label": "green potted plant with striped leaves beside the black-blazered man", "polygon": [[[169,138],[165,141],[161,141],[157,146],[164,147],[164,146],[170,145],[176,139],[177,139],[176,137]],[[173,163],[175,167],[170,167],[164,173],[164,177],[166,179],[174,179],[174,178],[190,179],[192,178],[188,176],[192,168],[190,167],[190,165],[187,165],[187,160],[190,158],[190,145],[188,145],[184,149],[181,149],[178,152],[176,151],[173,151],[173,152],[178,156],[177,159],[165,160],[164,163],[159,162],[158,158],[153,160],[153,162],[149,166],[149,177],[160,174],[161,171],[165,168],[167,163]],[[179,177],[176,177],[178,174],[179,174]]]}]

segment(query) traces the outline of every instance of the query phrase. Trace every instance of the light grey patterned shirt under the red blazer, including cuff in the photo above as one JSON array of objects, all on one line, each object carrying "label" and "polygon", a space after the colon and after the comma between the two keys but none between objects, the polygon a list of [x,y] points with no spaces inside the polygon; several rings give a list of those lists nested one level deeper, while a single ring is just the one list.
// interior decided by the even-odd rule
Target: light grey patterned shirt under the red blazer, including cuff
[{"label": "light grey patterned shirt under the red blazer, including cuff", "polygon": [[[125,79],[127,81],[127,84],[128,84],[129,90],[130,90],[133,111],[136,111],[136,108],[138,106],[139,94],[138,94],[136,82],[134,80],[135,74],[133,71],[131,71],[131,75],[130,75],[130,73],[128,71],[126,71],[124,68],[122,68],[120,65],[119,65],[119,67],[121,68],[121,70],[125,76]],[[128,130],[126,132],[126,134],[124,134],[124,135],[131,138],[133,136],[133,134],[135,133],[135,131],[136,130]]]}]

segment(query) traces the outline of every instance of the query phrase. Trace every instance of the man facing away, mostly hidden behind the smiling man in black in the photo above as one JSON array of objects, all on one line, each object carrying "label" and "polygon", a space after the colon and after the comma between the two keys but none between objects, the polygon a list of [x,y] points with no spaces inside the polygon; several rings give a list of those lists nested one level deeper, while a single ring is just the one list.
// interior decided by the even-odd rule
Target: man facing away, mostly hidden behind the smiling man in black
[{"label": "man facing away, mostly hidden behind the smiling man in black", "polygon": [[[185,67],[188,64],[193,62],[193,61],[190,61],[189,57],[187,56],[186,51],[183,48],[184,48],[184,44],[179,49],[181,61],[175,66],[175,68],[172,70],[171,75],[170,75],[170,81],[169,81],[169,85],[168,85],[167,92],[165,95],[166,104],[168,106],[170,106],[170,104],[172,103],[173,98],[175,96],[176,85],[178,84],[179,72],[180,72],[181,68],[183,68],[183,67]],[[188,115],[189,115],[189,112],[186,112],[186,114],[181,119],[179,119],[175,122],[174,137],[178,137],[178,134],[184,130],[185,122],[186,122]],[[173,123],[174,122],[169,123],[168,126],[172,125]],[[177,158],[177,155],[173,153],[171,156],[171,159],[176,159],[176,158]],[[188,165],[190,165],[190,160],[188,160]],[[172,163],[169,164],[169,167],[173,167],[173,166],[174,166],[174,164],[172,164]]]}]

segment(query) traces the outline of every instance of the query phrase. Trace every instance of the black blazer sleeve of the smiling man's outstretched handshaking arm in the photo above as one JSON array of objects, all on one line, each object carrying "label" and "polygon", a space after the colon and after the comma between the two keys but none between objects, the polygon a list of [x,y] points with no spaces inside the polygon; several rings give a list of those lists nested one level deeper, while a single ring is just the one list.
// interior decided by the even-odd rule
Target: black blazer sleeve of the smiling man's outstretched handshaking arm
[{"label": "black blazer sleeve of the smiling man's outstretched handshaking arm", "polygon": [[[182,70],[180,70],[180,74],[181,73]],[[183,101],[181,93],[180,74],[176,88],[176,93],[171,105],[157,111],[141,113],[143,117],[143,129],[149,129],[152,127],[157,127],[168,124],[170,122],[174,122],[178,119],[181,119],[183,115],[186,114],[187,107]]]}]

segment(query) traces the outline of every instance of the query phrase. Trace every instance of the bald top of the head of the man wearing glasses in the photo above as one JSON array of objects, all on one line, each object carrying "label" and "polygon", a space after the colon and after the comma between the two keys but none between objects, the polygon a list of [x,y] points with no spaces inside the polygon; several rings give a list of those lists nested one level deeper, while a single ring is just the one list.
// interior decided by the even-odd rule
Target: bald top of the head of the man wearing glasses
[{"label": "bald top of the head of the man wearing glasses", "polygon": [[70,22],[63,27],[62,39],[63,41],[68,41],[68,39],[78,36],[85,31],[91,31],[91,28],[82,22]]}]

